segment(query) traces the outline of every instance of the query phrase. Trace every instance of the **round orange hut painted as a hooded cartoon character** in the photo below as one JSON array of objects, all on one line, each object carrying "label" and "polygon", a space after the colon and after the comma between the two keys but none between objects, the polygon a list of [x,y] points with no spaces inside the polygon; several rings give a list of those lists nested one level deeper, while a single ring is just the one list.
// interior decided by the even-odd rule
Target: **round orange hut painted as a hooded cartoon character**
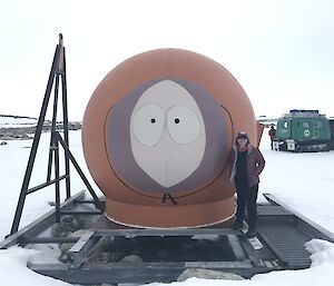
[{"label": "round orange hut painted as a hooded cartoon character", "polygon": [[200,227],[235,214],[228,160],[235,135],[256,145],[252,105],[202,55],[160,49],[111,70],[82,121],[85,158],[106,216],[134,227]]}]

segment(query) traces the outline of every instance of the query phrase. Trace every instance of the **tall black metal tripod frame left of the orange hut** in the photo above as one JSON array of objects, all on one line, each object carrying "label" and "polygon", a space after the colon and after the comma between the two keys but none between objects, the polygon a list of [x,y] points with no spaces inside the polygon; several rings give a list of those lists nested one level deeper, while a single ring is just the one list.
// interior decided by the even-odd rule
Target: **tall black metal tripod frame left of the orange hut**
[{"label": "tall black metal tripod frame left of the orange hut", "polygon": [[[58,93],[59,93],[59,82],[61,81],[61,93],[62,93],[62,126],[63,126],[63,138],[56,130],[57,127],[57,110],[58,110]],[[47,109],[49,106],[49,100],[51,97],[52,87],[55,83],[55,99],[53,99],[53,114],[52,114],[52,122],[51,122],[51,138],[50,138],[50,149],[49,149],[49,161],[48,161],[48,170],[47,170],[47,181],[40,184],[36,187],[29,188],[29,183],[31,178],[31,172],[33,169],[33,164],[40,141],[40,136],[43,128],[43,122],[47,114]],[[59,174],[59,145],[63,148],[65,151],[65,175],[60,176]],[[21,187],[21,193],[18,201],[18,206],[16,209],[16,215],[13,218],[13,223],[11,226],[10,235],[14,234],[19,229],[22,210],[26,201],[27,195],[30,195],[39,189],[42,189],[47,186],[55,184],[55,193],[56,193],[56,221],[60,221],[60,216],[62,211],[60,210],[60,180],[66,180],[66,198],[71,197],[70,193],[70,161],[78,171],[86,187],[88,188],[90,195],[94,198],[95,205],[101,211],[104,211],[104,206],[95,194],[92,187],[87,180],[85,174],[76,161],[69,149],[69,135],[68,135],[68,106],[67,106],[67,85],[66,85],[66,59],[65,59],[65,47],[62,34],[59,34],[59,43],[56,47],[55,57],[52,61],[51,71],[49,75],[49,80],[43,98],[43,102],[41,106],[40,115],[38,118],[38,124],[31,146],[31,151]],[[52,166],[55,170],[55,178],[51,179]]]}]

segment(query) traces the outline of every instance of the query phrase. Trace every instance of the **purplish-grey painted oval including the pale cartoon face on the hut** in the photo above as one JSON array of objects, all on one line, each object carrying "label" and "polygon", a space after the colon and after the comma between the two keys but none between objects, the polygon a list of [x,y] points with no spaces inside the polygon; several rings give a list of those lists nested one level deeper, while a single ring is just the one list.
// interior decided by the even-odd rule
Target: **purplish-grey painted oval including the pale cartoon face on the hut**
[{"label": "purplish-grey painted oval including the pale cartoon face on the hut", "polygon": [[106,118],[106,148],[117,177],[137,191],[197,190],[229,155],[226,112],[205,89],[181,79],[137,87]]}]

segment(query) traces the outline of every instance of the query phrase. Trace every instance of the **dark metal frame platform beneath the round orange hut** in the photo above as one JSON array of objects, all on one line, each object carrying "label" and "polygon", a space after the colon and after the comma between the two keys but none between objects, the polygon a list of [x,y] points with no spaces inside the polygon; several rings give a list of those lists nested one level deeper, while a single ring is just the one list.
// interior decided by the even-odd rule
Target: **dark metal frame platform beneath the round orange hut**
[{"label": "dark metal frame platform beneath the round orange hut", "polygon": [[[89,217],[91,225],[80,235],[55,237],[56,210],[6,238],[0,248],[12,245],[68,244],[70,262],[37,264],[29,268],[72,284],[119,284],[173,282],[188,268],[206,268],[239,274],[245,278],[257,273],[301,269],[311,265],[304,244],[312,238],[334,241],[334,235],[282,206],[271,195],[268,204],[258,205],[258,233],[247,238],[243,231],[215,225],[204,228],[139,229],[115,224],[85,200],[84,191],[61,205],[66,217]],[[104,203],[101,200],[101,203]],[[107,243],[106,243],[107,241]],[[122,249],[120,252],[119,249]],[[109,259],[95,259],[97,254]],[[136,255],[140,262],[128,262]],[[110,258],[112,257],[112,258]]]}]

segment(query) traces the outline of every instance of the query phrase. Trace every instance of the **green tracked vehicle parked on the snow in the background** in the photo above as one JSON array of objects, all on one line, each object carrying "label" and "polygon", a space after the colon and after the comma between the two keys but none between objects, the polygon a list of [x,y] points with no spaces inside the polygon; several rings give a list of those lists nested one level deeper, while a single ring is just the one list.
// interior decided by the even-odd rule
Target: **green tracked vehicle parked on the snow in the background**
[{"label": "green tracked vehicle parked on the snow in the background", "polygon": [[293,109],[277,121],[274,149],[282,151],[328,151],[333,148],[333,122],[318,110]]}]

